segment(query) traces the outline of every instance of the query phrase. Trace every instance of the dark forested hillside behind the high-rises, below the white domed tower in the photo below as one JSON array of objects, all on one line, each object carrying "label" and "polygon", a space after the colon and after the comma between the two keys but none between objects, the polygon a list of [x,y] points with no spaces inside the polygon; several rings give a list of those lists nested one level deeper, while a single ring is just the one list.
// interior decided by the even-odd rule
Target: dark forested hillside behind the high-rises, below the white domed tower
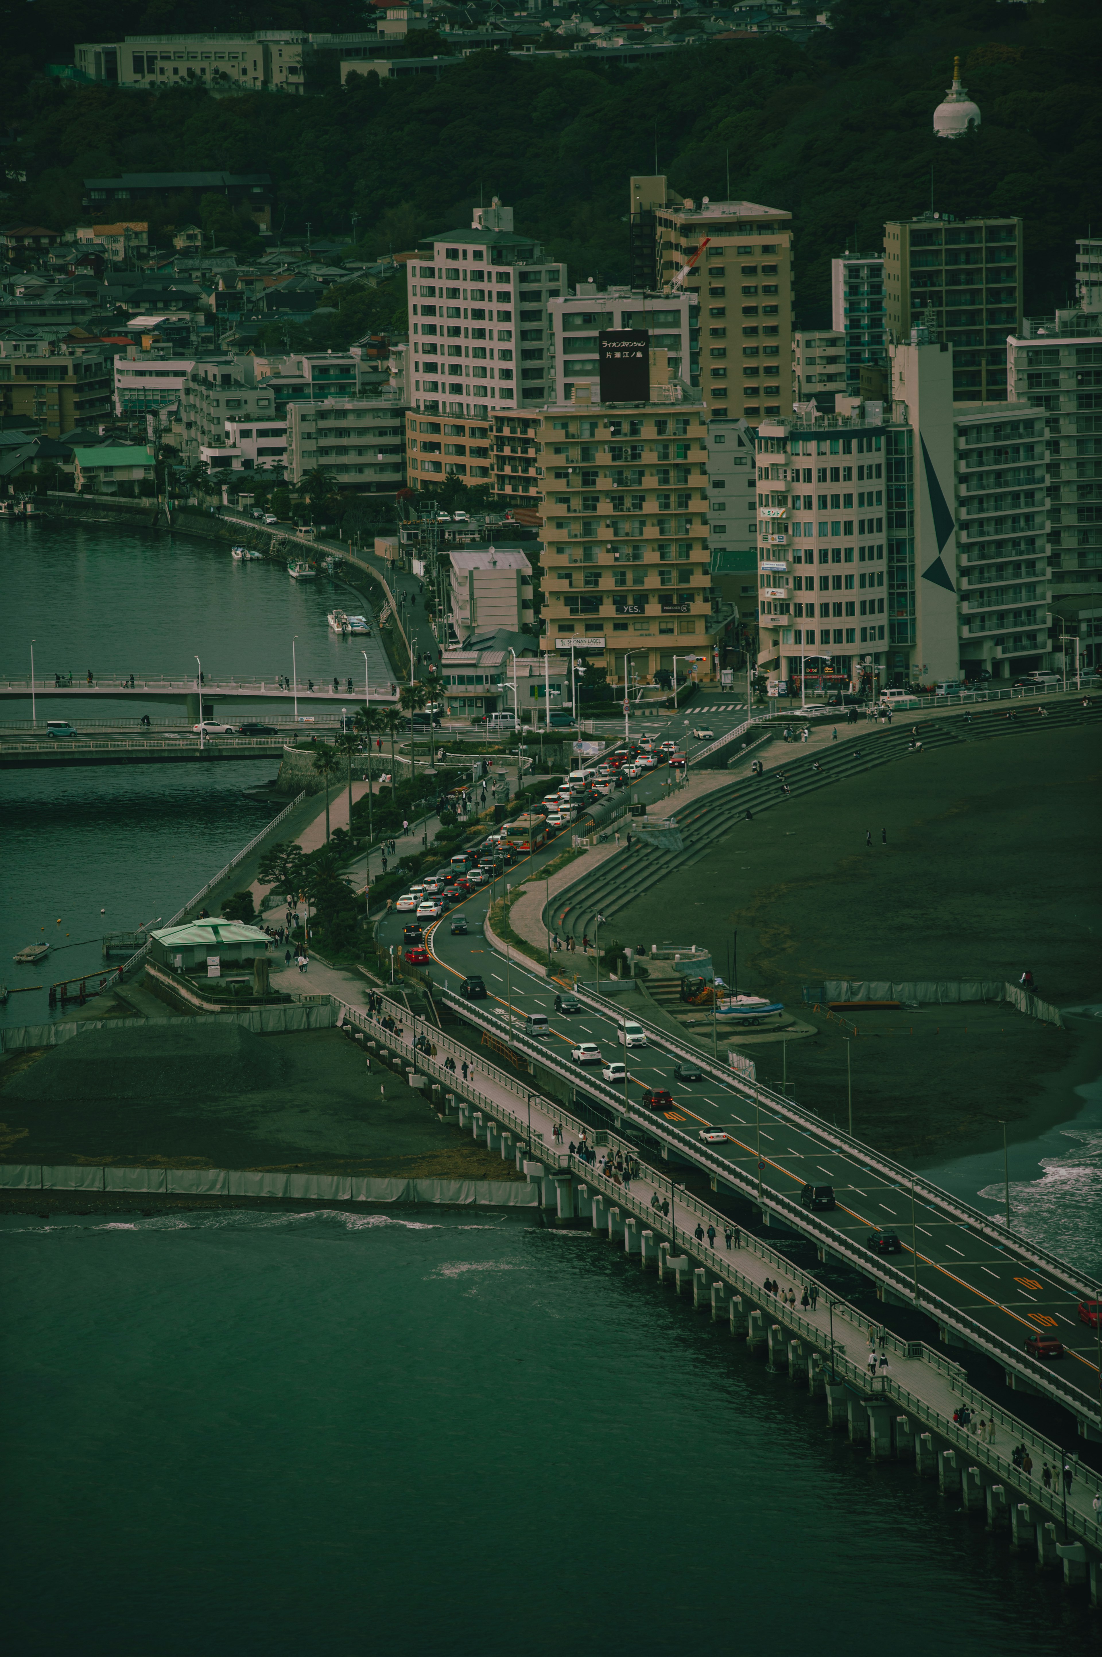
[{"label": "dark forested hillside behind the high-rises, below the white domed tower", "polygon": [[[365,76],[300,99],[73,88],[8,56],[5,156],[28,181],[8,184],[3,217],[86,217],[88,174],[229,167],[273,176],[277,227],[348,234],[355,212],[365,247],[386,250],[497,194],[572,277],[621,280],[628,174],[658,152],[681,192],[724,197],[729,167],[732,196],[794,214],[802,323],[829,316],[832,254],[878,249],[887,217],[931,199],[1022,214],[1027,310],[1062,302],[1074,237],[1102,224],[1097,0],[840,0],[830,17],[807,50],[762,36],[631,71],[482,53],[439,80]],[[931,114],[955,53],[983,126],[945,143]]]}]

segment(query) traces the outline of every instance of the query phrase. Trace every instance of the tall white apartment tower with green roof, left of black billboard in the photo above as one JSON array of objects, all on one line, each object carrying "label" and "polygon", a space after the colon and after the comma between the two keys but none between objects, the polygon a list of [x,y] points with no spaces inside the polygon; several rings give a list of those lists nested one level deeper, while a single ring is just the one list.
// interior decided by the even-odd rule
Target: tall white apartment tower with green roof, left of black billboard
[{"label": "tall white apartment tower with green roof, left of black billboard", "polygon": [[[469,230],[426,237],[409,260],[409,401],[424,414],[484,419],[540,408],[549,384],[547,302],[567,267],[512,229],[512,207],[474,210]],[[534,331],[520,345],[519,328]],[[539,335],[539,338],[535,338]]]}]

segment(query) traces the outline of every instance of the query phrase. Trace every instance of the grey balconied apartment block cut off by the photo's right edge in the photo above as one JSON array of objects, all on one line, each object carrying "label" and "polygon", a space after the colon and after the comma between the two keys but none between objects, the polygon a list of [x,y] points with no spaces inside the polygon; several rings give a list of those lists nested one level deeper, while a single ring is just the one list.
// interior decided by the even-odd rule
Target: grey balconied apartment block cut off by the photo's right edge
[{"label": "grey balconied apartment block cut off by the photo's right edge", "polygon": [[[1079,249],[1082,258],[1082,242]],[[1011,336],[1006,348],[1011,396],[1044,411],[1047,474],[1022,534],[1036,540],[1047,510],[1052,666],[1062,668],[1066,651],[1074,663],[1069,641],[1077,638],[1080,666],[1095,668],[1102,663],[1102,315],[1095,308],[1027,318],[1022,336]],[[1004,476],[1013,464],[1006,456]],[[1016,515],[1024,519],[1024,510]]]}]

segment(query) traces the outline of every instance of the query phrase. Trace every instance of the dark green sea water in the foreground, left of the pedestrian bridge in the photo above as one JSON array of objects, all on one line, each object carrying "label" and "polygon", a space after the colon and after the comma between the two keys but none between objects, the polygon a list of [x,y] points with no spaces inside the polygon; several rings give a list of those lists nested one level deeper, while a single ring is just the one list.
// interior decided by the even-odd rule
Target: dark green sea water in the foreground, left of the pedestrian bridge
[{"label": "dark green sea water in the foreground, left of the pedestrian bridge", "polygon": [[403,1211],[0,1223],[12,1652],[1087,1649],[621,1254]]}]

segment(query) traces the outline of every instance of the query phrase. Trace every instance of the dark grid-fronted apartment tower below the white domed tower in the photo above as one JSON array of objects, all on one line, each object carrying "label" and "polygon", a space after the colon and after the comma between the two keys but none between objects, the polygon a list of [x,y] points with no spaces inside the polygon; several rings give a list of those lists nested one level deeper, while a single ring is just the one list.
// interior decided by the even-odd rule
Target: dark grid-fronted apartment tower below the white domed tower
[{"label": "dark grid-fronted apartment tower below the white domed tower", "polygon": [[1022,315],[1021,219],[923,214],[883,227],[885,323],[895,340],[925,326],[953,346],[958,403],[1006,398],[1006,338]]}]

